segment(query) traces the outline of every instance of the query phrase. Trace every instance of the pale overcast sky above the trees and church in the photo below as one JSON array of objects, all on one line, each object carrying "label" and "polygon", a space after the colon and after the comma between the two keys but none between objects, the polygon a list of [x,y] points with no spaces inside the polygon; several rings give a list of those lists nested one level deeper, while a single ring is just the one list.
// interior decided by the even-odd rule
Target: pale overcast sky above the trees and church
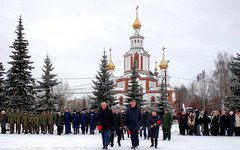
[{"label": "pale overcast sky above the trees and church", "polygon": [[[110,47],[114,74],[123,75],[136,5],[151,70],[165,46],[173,87],[188,86],[202,70],[210,74],[218,52],[240,52],[239,0],[0,0],[0,61],[10,67],[9,46],[21,14],[35,78],[47,54],[59,78],[94,77]],[[68,81],[70,87],[91,86],[91,79]]]}]

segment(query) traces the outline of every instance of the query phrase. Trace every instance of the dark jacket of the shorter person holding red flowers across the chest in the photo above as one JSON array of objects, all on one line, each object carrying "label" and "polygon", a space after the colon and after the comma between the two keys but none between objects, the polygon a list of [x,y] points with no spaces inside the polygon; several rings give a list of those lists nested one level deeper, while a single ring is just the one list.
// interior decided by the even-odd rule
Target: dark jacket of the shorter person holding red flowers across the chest
[{"label": "dark jacket of the shorter person holding red flowers across the chest", "polygon": [[[148,135],[149,137],[151,138],[158,138],[158,135],[159,135],[159,126],[160,124],[158,124],[158,121],[161,122],[161,119],[159,116],[149,116],[147,121],[146,121],[146,125],[148,126],[149,128],[149,132],[148,132]],[[154,126],[154,124],[156,124],[156,126]],[[151,126],[154,126],[151,128]]]}]

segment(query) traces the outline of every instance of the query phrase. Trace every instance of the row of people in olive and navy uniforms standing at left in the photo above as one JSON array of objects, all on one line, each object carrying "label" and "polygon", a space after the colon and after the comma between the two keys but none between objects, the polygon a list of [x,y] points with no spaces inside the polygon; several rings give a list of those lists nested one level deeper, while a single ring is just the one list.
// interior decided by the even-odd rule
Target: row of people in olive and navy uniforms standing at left
[{"label": "row of people in olive and navy uniforms standing at left", "polygon": [[90,134],[94,134],[96,128],[96,113],[91,110],[90,113],[86,109],[82,111],[73,111],[73,114],[66,108],[64,114],[58,112],[54,114],[53,111],[33,113],[23,112],[19,110],[10,110],[8,114],[3,110],[0,117],[2,134],[6,133],[6,124],[10,125],[10,134],[25,133],[25,134],[53,134],[54,125],[57,126],[57,134],[63,133],[63,126],[65,125],[65,134],[71,133],[71,126],[74,134],[79,133],[79,128],[82,134],[88,133],[90,126]]}]

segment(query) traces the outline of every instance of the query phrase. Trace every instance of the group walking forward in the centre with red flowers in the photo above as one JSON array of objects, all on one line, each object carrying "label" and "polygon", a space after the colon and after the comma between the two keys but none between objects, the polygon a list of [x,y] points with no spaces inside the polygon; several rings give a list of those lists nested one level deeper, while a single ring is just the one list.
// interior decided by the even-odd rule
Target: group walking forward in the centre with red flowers
[{"label": "group walking forward in the centre with red flowers", "polygon": [[150,113],[149,109],[146,109],[145,112],[142,112],[137,107],[136,101],[133,100],[126,112],[123,114],[121,111],[118,114],[116,112],[116,109],[111,110],[106,102],[101,103],[97,115],[97,124],[102,134],[102,149],[108,149],[109,144],[113,146],[115,133],[118,137],[118,144],[121,146],[120,140],[124,130],[130,135],[131,149],[136,149],[139,146],[139,131],[140,134],[141,131],[144,131],[145,139],[151,138],[150,147],[157,148],[160,126],[163,129],[163,140],[171,139],[173,116],[168,109],[164,111],[162,118],[160,118],[156,110],[152,110]]}]

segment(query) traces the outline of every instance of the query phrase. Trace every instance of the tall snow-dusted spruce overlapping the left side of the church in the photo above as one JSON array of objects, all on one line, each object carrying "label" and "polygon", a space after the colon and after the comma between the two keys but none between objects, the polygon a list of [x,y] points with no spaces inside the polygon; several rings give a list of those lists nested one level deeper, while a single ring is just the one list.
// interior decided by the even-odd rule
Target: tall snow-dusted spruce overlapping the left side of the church
[{"label": "tall snow-dusted spruce overlapping the left side of the church", "polygon": [[107,55],[106,51],[104,51],[100,64],[100,70],[97,72],[96,75],[96,81],[92,81],[94,84],[94,98],[92,108],[97,109],[100,106],[101,102],[107,102],[110,107],[115,104],[115,97],[114,93],[112,92],[114,82],[110,79],[110,77],[111,74],[107,69]]}]

